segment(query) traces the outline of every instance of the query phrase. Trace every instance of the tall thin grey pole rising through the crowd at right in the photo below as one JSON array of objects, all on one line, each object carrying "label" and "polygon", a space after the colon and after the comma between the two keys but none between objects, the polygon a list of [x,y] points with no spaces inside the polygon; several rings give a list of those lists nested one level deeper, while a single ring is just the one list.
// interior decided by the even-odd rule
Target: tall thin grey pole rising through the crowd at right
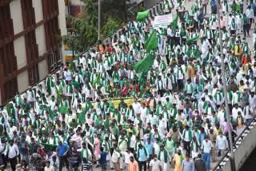
[{"label": "tall thin grey pole rising through the crowd at right", "polygon": [[231,166],[231,170],[236,170],[235,162],[234,162],[232,130],[231,130],[231,123],[230,123],[230,109],[229,109],[229,103],[227,99],[226,72],[225,72],[225,64],[224,64],[224,56],[223,56],[221,21],[220,21],[218,0],[216,0],[216,2],[217,2],[217,13],[218,13],[218,40],[220,43],[221,59],[222,59],[222,82],[223,82],[223,91],[224,91],[223,93],[224,93],[226,117],[227,117],[227,124],[228,124],[228,134],[229,134],[229,141],[230,141],[230,166]]}]

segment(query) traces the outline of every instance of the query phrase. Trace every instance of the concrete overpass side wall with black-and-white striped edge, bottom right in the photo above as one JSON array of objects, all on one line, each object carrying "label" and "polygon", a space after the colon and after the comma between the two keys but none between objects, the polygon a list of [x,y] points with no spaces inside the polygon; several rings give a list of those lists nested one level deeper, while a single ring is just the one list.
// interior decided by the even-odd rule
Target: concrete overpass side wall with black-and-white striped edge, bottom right
[{"label": "concrete overpass side wall with black-and-white striped edge, bottom right", "polygon": [[[256,119],[250,123],[246,129],[238,136],[236,141],[234,141],[234,165],[235,170],[242,168],[250,153],[256,148]],[[213,169],[214,171],[234,171],[231,169],[230,162],[230,149],[224,154],[218,164]],[[255,169],[256,170],[256,169]]]}]

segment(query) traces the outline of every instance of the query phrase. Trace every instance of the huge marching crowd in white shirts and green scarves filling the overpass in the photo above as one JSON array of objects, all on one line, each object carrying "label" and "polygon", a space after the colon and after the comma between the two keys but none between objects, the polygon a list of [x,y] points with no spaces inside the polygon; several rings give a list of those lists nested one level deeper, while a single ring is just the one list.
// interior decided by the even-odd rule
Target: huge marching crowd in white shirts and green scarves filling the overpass
[{"label": "huge marching crowd in white shirts and green scarves filling the overpass", "polygon": [[[2,106],[1,169],[209,170],[230,146],[229,126],[234,141],[255,116],[256,9],[253,1],[220,1],[219,26],[216,0],[184,4],[164,0],[159,11],[177,14],[177,27],[154,28],[154,17],[129,22],[120,38]],[[158,48],[147,52],[153,30]],[[136,73],[152,52],[151,69]]]}]

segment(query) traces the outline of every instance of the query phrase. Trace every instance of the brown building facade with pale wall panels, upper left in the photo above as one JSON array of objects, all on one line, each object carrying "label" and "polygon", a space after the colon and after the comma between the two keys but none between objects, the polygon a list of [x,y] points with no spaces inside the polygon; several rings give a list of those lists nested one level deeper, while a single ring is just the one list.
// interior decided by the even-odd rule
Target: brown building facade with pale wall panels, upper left
[{"label": "brown building facade with pale wall panels, upper left", "polygon": [[0,102],[46,78],[62,61],[64,0],[0,1]]}]

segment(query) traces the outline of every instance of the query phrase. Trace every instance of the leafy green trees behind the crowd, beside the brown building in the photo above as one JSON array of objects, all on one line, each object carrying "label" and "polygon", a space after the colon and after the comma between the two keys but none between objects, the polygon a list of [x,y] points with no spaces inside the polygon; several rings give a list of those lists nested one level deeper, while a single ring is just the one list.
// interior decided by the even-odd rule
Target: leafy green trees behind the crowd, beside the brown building
[{"label": "leafy green trees behind the crowd, beside the brown building", "polygon": [[[98,39],[98,0],[82,0],[85,12],[79,18],[68,18],[76,37],[67,35],[62,42],[77,53],[86,51]],[[110,33],[127,21],[126,2],[130,0],[102,0],[101,2],[101,38],[110,37]]]}]

